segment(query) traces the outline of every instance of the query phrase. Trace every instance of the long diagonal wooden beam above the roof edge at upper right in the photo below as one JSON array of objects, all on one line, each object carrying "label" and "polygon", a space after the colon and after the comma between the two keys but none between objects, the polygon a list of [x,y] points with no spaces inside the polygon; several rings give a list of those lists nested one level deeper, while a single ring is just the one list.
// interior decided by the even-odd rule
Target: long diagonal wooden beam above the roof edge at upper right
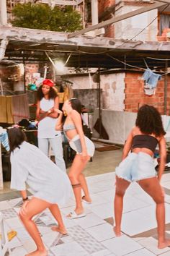
[{"label": "long diagonal wooden beam above the roof edge at upper right", "polygon": [[166,5],[167,4],[164,4],[164,3],[150,4],[148,7],[143,7],[143,8],[137,9],[137,10],[135,10],[133,12],[128,12],[126,14],[122,14],[119,17],[113,17],[113,18],[111,18],[109,20],[105,20],[104,22],[100,22],[97,25],[93,25],[91,27],[86,27],[83,30],[79,30],[79,31],[70,33],[70,34],[68,34],[68,38],[73,38],[76,35],[82,35],[84,33],[87,33],[89,31],[91,31],[91,30],[97,30],[97,29],[99,29],[101,27],[106,27],[106,26],[111,25],[111,24],[113,24],[115,22],[119,22],[120,20],[126,20],[126,19],[128,19],[130,17],[136,16],[136,15],[141,14],[143,12],[149,12],[149,11],[151,11],[153,9],[158,9],[159,7],[164,7]]}]

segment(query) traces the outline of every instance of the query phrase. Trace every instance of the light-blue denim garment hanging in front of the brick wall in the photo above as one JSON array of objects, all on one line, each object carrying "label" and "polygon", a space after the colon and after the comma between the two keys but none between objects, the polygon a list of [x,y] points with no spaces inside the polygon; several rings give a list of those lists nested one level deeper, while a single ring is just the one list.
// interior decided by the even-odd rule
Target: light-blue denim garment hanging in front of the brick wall
[{"label": "light-blue denim garment hanging in front of the brick wall", "polygon": [[158,80],[161,80],[161,74],[156,74],[151,69],[146,69],[143,74],[143,80],[146,81],[149,89],[153,89],[156,88]]}]

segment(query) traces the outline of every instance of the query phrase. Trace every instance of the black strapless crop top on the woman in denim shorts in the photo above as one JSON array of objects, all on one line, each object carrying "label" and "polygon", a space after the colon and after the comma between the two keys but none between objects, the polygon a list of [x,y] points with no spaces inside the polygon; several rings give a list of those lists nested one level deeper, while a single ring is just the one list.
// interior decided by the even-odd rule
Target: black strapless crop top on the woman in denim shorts
[{"label": "black strapless crop top on the woman in denim shorts", "polygon": [[133,137],[133,148],[148,148],[153,153],[156,150],[156,145],[158,144],[158,140],[156,137],[153,137],[151,135],[135,135]]}]

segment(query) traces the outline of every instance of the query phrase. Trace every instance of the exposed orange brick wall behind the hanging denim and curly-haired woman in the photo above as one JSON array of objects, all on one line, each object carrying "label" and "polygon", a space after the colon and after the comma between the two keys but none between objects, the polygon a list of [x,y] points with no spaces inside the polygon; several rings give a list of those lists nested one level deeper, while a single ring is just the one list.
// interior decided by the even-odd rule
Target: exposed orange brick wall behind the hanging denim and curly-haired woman
[{"label": "exposed orange brick wall behind the hanging denim and curly-haired woman", "polygon": [[[158,82],[155,95],[146,95],[143,90],[144,82],[140,73],[126,73],[125,76],[125,111],[137,112],[138,107],[148,104],[156,107],[164,114],[164,76]],[[170,76],[167,86],[167,111],[170,114]]]}]

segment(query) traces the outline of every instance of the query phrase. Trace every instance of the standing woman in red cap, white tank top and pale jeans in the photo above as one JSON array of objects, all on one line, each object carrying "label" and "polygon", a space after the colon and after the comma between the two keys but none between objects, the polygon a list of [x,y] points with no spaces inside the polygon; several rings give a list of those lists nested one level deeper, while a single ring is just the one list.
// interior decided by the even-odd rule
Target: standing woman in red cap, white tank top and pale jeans
[{"label": "standing woman in red cap, white tank top and pale jeans", "polygon": [[55,155],[56,165],[62,171],[66,171],[61,132],[55,130],[58,113],[54,111],[54,108],[59,108],[59,98],[54,88],[54,82],[45,79],[37,90],[38,148],[48,155],[50,145]]}]

